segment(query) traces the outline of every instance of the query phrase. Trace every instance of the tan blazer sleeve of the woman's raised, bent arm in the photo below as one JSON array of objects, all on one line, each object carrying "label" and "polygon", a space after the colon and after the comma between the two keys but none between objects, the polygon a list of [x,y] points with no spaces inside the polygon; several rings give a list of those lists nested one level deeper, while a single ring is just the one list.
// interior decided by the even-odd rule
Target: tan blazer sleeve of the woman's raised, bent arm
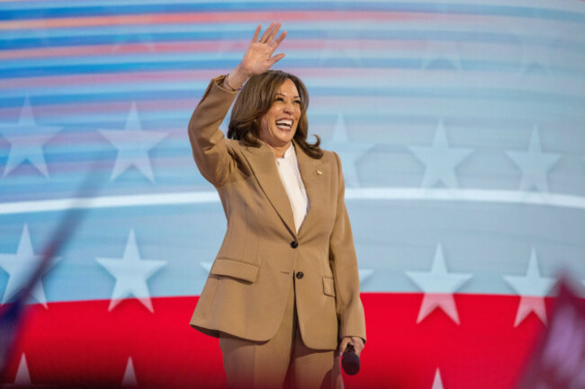
[{"label": "tan blazer sleeve of the woman's raised, bent arm", "polygon": [[213,78],[189,120],[193,158],[202,176],[216,187],[228,180],[236,162],[229,155],[220,124],[238,92],[222,88],[225,75]]}]

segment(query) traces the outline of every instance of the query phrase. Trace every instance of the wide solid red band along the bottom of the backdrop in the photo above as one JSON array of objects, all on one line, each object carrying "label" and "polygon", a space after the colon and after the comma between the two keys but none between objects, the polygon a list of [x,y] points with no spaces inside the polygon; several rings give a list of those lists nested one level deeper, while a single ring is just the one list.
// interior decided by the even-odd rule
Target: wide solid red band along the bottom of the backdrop
[{"label": "wide solid red band along the bottom of the backdrop", "polygon": [[[518,296],[456,295],[461,325],[440,310],[417,324],[421,294],[364,294],[368,341],[362,371],[347,388],[430,389],[437,368],[446,389],[512,388],[544,328],[535,314],[514,327]],[[197,297],[33,305],[21,353],[33,384],[120,385],[128,358],[140,387],[222,387],[218,340],[188,325]],[[547,301],[550,303],[550,301]]]}]

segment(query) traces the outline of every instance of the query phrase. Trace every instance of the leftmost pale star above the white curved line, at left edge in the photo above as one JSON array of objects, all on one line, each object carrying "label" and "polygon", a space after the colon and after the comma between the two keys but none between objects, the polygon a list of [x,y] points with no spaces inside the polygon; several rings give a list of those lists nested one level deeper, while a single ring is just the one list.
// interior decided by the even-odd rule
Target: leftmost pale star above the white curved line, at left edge
[{"label": "leftmost pale star above the white curved line, at left edge", "polygon": [[49,177],[42,146],[61,129],[62,127],[38,126],[27,95],[18,124],[0,124],[0,135],[10,143],[4,176],[28,160],[45,177]]}]

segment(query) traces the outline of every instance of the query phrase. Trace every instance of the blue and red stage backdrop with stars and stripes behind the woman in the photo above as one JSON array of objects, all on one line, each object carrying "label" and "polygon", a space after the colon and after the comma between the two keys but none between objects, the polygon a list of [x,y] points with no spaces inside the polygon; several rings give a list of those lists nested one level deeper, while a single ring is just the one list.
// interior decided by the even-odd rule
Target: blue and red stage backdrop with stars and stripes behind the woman
[{"label": "blue and red stage backdrop with stars and stripes behind the woman", "polygon": [[347,387],[513,386],[558,271],[585,278],[576,0],[1,2],[2,304],[86,209],[7,382],[223,385],[188,326],[226,223],[187,122],[271,21],[346,177],[368,331]]}]

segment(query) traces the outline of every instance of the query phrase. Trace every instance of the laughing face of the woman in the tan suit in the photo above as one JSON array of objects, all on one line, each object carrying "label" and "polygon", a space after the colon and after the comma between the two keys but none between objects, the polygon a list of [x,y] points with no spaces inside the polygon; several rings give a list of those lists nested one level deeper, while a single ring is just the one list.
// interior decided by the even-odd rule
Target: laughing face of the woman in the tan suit
[{"label": "laughing face of the woman in the tan suit", "polygon": [[260,119],[260,139],[269,146],[287,146],[300,118],[301,97],[293,80],[287,78],[276,92],[272,107]]}]

